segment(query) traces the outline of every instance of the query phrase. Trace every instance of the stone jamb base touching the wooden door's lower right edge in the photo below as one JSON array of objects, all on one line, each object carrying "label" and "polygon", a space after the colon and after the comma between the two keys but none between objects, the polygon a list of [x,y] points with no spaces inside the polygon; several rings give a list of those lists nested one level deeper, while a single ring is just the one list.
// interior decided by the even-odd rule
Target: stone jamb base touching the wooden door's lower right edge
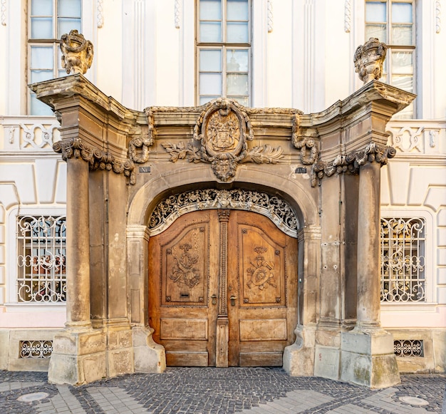
[{"label": "stone jamb base touching the wooden door's lower right edge", "polygon": [[313,376],[315,331],[298,326],[294,333],[296,342],[284,349],[284,370],[290,376]]}]

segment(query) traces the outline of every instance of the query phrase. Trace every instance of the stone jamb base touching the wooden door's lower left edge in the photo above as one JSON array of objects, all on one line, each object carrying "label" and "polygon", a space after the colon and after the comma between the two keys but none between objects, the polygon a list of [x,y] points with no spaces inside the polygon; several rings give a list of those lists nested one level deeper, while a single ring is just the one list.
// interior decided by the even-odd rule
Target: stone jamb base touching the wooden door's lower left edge
[{"label": "stone jamb base touching the wooden door's lower left edge", "polygon": [[135,372],[162,373],[166,369],[165,348],[153,341],[152,332],[152,328],[132,329]]}]

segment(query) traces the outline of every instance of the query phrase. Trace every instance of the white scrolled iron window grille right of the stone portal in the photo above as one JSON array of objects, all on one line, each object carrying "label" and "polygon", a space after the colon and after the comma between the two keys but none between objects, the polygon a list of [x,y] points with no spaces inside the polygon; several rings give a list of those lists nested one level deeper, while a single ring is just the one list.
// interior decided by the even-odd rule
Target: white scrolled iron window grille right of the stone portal
[{"label": "white scrolled iron window grille right of the stone portal", "polygon": [[381,301],[423,302],[425,219],[381,219]]}]

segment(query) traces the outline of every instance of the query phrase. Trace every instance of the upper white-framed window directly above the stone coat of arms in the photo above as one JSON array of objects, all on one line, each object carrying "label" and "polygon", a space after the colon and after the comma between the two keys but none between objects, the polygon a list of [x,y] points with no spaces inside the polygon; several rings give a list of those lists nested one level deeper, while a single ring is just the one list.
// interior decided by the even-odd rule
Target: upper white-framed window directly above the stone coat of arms
[{"label": "upper white-framed window directly above the stone coat of arms", "polygon": [[198,0],[197,100],[251,101],[250,0]]}]

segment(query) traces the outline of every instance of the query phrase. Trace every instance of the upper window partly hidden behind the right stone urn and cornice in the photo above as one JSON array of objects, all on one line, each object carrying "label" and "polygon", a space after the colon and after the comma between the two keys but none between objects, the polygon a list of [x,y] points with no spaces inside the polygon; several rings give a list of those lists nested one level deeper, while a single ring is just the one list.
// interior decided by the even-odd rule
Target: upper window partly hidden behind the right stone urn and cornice
[{"label": "upper window partly hidden behind the right stone urn and cornice", "polygon": [[[382,81],[415,93],[415,2],[365,1],[365,40],[378,38],[388,46]],[[394,118],[414,118],[414,105]]]}]

